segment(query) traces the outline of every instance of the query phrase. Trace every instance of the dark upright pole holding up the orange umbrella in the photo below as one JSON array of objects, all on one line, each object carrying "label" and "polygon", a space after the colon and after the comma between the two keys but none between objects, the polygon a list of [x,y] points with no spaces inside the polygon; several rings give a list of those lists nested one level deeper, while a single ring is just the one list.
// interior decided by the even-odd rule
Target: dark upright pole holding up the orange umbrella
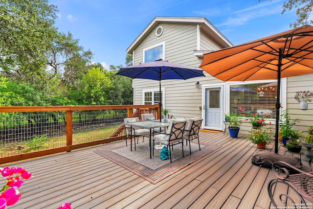
[{"label": "dark upright pole holding up the orange umbrella", "polygon": [[275,124],[275,153],[278,153],[278,133],[279,133],[279,111],[280,111],[280,78],[282,67],[282,49],[279,49],[278,69],[277,69],[277,98],[276,98],[276,124]]}]

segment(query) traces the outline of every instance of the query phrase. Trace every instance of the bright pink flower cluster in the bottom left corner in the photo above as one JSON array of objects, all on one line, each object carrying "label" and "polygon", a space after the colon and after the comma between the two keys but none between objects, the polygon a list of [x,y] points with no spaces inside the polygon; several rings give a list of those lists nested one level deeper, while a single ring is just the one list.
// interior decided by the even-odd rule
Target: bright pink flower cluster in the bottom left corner
[{"label": "bright pink flower cluster in the bottom left corner", "polygon": [[7,177],[6,184],[0,190],[0,209],[5,209],[7,206],[16,204],[21,197],[18,188],[24,183],[22,180],[32,177],[22,167],[5,167],[0,168],[3,177]]}]

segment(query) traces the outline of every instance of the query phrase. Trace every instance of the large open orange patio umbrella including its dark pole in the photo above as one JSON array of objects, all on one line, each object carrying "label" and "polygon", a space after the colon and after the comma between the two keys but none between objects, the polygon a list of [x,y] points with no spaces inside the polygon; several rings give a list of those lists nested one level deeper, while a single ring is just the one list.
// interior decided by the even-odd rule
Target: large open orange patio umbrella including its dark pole
[{"label": "large open orange patio umbrella including its dark pole", "polygon": [[200,68],[223,81],[277,79],[275,153],[278,152],[280,79],[313,73],[313,26],[303,25],[203,55]]}]

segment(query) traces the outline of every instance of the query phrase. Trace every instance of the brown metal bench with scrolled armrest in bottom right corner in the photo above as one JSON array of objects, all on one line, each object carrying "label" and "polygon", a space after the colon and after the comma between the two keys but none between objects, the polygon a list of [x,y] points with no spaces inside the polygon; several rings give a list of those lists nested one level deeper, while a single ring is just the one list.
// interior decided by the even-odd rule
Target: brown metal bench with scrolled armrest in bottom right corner
[{"label": "brown metal bench with scrolled armrest in bottom right corner", "polygon": [[[286,204],[287,200],[290,200],[291,203],[298,203],[299,208],[308,208],[308,206],[312,206],[313,202],[313,158],[309,161],[310,168],[306,168],[300,170],[289,163],[283,161],[277,161],[272,165],[272,171],[275,174],[276,178],[272,179],[268,182],[268,196],[275,206],[278,207],[278,202],[274,200],[274,197],[278,197],[281,203]],[[289,169],[297,171],[298,173],[291,174]],[[282,186],[289,186],[288,194],[282,193],[279,190],[279,184]],[[275,190],[274,190],[275,188]],[[298,197],[293,197],[294,194],[291,190],[293,190]],[[278,194],[274,194],[274,192]],[[292,196],[291,196],[292,195]],[[287,199],[287,200],[286,200]],[[301,203],[300,203],[300,199]],[[305,202],[305,199],[309,200],[309,204]],[[295,206],[293,205],[292,206]],[[302,206],[302,207],[301,207]],[[293,207],[292,207],[293,208]],[[309,207],[310,208],[310,207]]]}]

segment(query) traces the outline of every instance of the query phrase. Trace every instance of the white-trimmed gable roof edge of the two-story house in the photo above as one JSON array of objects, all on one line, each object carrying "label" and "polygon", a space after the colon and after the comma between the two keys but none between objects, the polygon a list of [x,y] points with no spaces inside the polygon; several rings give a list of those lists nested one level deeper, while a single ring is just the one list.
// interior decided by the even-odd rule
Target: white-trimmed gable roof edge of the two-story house
[{"label": "white-trimmed gable roof edge of the two-story house", "polygon": [[218,31],[206,18],[203,17],[156,17],[151,23],[139,34],[134,42],[126,49],[129,54],[133,53],[134,48],[140,44],[140,42],[152,31],[155,30],[155,26],[159,23],[189,23],[200,24],[201,30],[207,33],[212,39],[216,40],[221,46],[229,47],[233,46],[224,35]]}]

